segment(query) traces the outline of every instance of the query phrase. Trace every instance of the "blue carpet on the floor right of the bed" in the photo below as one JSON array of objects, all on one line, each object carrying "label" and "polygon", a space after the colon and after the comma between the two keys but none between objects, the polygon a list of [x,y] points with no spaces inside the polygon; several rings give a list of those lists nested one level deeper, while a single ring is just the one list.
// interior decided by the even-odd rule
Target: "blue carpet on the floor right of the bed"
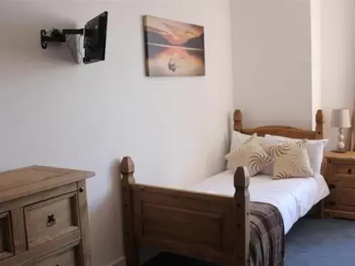
[{"label": "blue carpet on the floor right of the bed", "polygon": [[355,221],[304,218],[286,235],[285,266],[354,266]]}]

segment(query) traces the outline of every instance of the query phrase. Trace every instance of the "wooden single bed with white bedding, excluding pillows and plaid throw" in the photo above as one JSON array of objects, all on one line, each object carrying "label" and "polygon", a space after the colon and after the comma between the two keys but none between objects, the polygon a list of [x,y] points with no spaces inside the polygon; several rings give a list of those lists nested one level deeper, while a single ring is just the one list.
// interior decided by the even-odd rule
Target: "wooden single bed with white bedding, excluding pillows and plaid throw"
[{"label": "wooden single bed with white bedding, excluding pillows and plaid throw", "polygon": [[[244,129],[241,111],[234,112],[235,131],[257,133],[260,136],[271,134],[288,138],[322,139],[321,110],[317,111],[315,121],[315,131],[289,126]],[[280,209],[286,232],[298,218],[307,213],[312,202],[318,202],[313,209],[315,214],[322,216],[321,199],[326,194],[321,189],[325,186],[321,176],[310,179],[310,182],[304,179],[302,183],[306,184],[302,189],[298,190],[296,186],[294,192],[281,192],[279,189],[290,187],[293,182],[278,180],[275,186],[266,177],[250,178],[244,167],[238,167],[234,173],[222,172],[218,177],[210,177],[186,189],[136,184],[131,157],[123,158],[120,170],[124,249],[128,266],[138,265],[141,246],[159,248],[220,265],[249,266],[253,220],[251,206],[256,205],[256,202],[251,201],[269,202],[271,204],[268,205],[277,206],[274,208]],[[221,179],[217,185],[216,178]],[[230,184],[230,187],[226,184]],[[261,186],[263,189],[260,189]],[[261,194],[261,190],[268,194]],[[318,193],[319,196],[315,196]],[[282,194],[286,200],[280,200]]]}]

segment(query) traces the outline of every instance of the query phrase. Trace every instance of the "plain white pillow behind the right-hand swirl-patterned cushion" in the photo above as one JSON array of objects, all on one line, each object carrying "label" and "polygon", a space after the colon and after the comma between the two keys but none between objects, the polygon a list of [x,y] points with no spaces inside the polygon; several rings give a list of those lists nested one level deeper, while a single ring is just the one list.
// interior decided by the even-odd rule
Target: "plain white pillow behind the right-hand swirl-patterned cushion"
[{"label": "plain white pillow behind the right-hand swirl-patterned cushion", "polygon": [[[281,144],[283,142],[297,142],[301,140],[299,138],[285,138],[280,135],[265,135],[265,139],[277,141],[278,144]],[[310,166],[313,172],[315,172],[315,174],[320,174],[320,170],[322,168],[324,148],[327,146],[328,142],[329,140],[326,138],[322,140],[307,141],[307,153],[308,157],[310,158]]]}]

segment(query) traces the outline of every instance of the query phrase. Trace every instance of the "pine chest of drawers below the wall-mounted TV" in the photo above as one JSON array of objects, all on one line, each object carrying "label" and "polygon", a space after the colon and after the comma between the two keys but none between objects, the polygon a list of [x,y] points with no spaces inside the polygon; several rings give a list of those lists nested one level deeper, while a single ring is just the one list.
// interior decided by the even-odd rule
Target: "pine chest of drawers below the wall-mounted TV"
[{"label": "pine chest of drawers below the wall-mounted TV", "polygon": [[90,266],[85,179],[31,166],[0,173],[0,266]]}]

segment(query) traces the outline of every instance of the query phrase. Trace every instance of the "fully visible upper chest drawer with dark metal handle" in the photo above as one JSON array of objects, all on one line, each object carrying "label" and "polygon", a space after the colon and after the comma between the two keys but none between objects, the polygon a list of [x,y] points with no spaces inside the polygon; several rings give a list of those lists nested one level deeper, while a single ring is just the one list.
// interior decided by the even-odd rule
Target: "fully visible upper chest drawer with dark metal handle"
[{"label": "fully visible upper chest drawer with dark metal handle", "polygon": [[76,192],[26,206],[24,214],[28,249],[79,229]]}]

